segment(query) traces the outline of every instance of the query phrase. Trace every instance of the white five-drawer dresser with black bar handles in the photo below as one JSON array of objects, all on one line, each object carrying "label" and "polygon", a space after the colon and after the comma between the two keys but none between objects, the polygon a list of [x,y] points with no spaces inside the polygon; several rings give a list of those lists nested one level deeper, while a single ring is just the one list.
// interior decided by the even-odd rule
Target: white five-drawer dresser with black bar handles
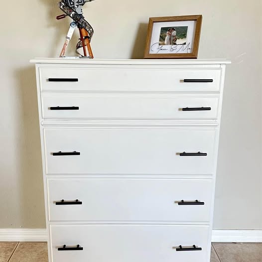
[{"label": "white five-drawer dresser with black bar handles", "polygon": [[49,262],[209,262],[229,61],[31,62]]}]

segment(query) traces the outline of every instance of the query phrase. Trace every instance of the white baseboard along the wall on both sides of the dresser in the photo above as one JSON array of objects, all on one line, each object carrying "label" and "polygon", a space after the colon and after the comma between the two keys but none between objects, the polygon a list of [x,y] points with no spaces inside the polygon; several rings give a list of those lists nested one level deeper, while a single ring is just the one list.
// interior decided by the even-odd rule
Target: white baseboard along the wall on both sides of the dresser
[{"label": "white baseboard along the wall on both sides of the dresser", "polygon": [[[45,229],[0,229],[0,242],[46,242]],[[212,242],[262,242],[262,230],[213,230]]]}]

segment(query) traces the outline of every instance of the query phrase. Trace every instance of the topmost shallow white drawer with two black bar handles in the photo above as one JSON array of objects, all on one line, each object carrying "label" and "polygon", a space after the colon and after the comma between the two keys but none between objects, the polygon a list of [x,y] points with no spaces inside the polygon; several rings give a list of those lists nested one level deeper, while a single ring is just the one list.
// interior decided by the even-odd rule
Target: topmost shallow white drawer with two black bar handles
[{"label": "topmost shallow white drawer with two black bar handles", "polygon": [[221,69],[67,68],[39,69],[41,90],[165,91],[220,90]]}]

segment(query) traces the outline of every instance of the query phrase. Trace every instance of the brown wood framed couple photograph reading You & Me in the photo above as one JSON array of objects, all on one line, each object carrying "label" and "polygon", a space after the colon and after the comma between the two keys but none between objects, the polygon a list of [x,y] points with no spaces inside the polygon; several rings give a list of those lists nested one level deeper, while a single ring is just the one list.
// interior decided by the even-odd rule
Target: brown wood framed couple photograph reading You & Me
[{"label": "brown wood framed couple photograph reading You & Me", "polygon": [[150,17],[144,58],[197,58],[202,15]]}]

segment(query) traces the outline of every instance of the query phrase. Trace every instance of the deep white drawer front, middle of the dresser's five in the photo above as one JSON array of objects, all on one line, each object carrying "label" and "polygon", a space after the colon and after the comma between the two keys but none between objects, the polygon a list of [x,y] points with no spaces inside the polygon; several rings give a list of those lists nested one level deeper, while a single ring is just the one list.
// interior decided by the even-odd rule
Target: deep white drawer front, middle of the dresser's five
[{"label": "deep white drawer front, middle of the dresser's five", "polygon": [[45,129],[47,174],[212,174],[215,130]]}]

